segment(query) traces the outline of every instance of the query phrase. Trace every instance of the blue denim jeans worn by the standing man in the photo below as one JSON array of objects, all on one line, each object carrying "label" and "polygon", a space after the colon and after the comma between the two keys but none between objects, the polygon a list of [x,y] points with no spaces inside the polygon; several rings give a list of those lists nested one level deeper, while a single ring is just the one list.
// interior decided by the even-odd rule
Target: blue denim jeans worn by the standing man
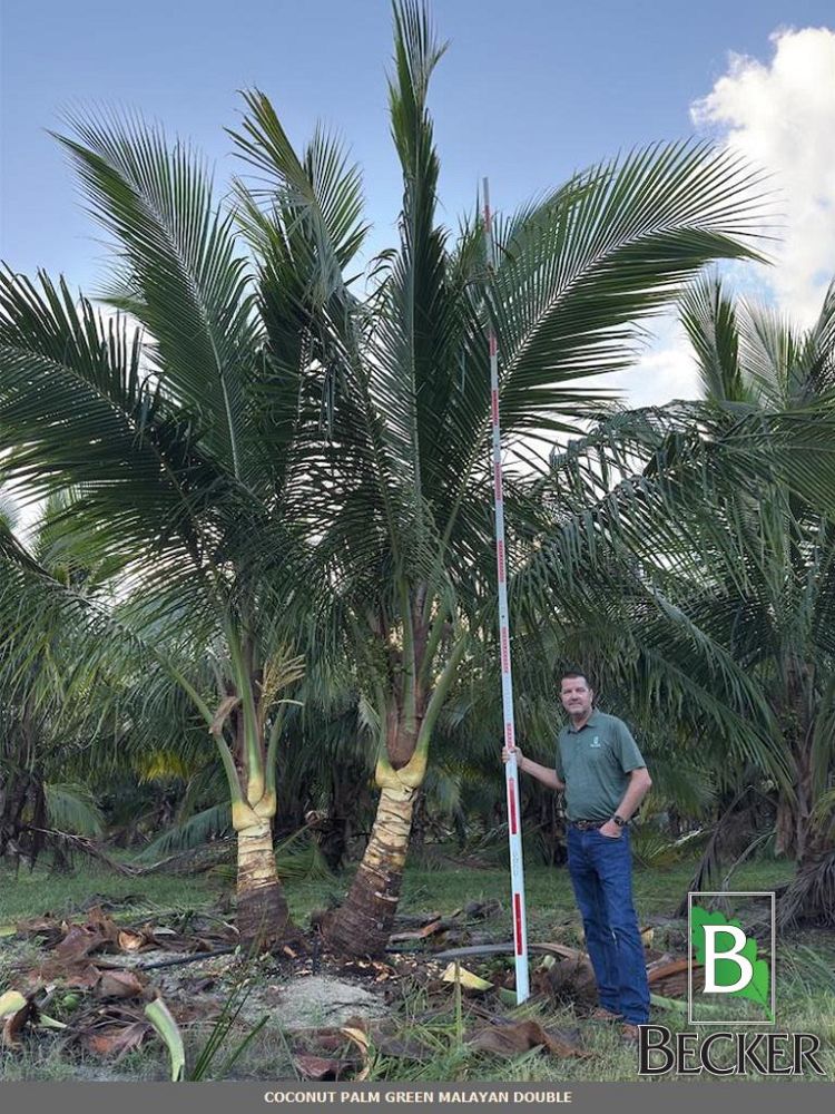
[{"label": "blue denim jeans worn by the standing man", "polygon": [[632,905],[629,829],[617,839],[568,829],[568,871],[582,916],[600,1005],[632,1025],[649,1020],[644,944]]}]

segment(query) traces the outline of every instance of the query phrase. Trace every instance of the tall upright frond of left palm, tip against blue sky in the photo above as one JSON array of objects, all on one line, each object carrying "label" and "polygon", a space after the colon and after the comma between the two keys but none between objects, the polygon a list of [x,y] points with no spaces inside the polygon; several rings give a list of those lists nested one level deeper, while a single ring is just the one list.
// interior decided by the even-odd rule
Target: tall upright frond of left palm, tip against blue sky
[{"label": "tall upright frond of left palm, tip against blue sky", "polygon": [[69,152],[92,215],[112,234],[128,310],[155,342],[156,374],[195,416],[216,459],[244,482],[257,478],[246,424],[246,381],[259,328],[252,276],[234,218],[214,205],[203,159],[138,116],[71,117]]}]

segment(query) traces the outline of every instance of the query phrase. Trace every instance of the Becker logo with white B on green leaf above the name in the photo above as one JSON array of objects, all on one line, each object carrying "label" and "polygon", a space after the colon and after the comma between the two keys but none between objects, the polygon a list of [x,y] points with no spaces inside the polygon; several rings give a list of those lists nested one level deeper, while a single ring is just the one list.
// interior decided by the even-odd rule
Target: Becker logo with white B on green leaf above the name
[{"label": "Becker logo with white B on green leaf above the name", "polygon": [[[731,917],[717,908],[743,899],[756,913]],[[741,1032],[728,1026],[775,1025],[775,896],[773,892],[688,895],[687,1020],[714,1032],[674,1033],[665,1025],[641,1025],[639,1075],[825,1075],[814,1033]],[[769,917],[763,918],[763,899]]]}]

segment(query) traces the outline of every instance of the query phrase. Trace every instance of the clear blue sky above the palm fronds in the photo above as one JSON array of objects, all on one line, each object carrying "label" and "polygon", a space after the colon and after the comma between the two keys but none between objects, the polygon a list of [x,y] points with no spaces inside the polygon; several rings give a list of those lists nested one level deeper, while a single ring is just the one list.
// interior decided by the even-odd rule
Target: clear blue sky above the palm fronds
[{"label": "clear blue sky above the palm fronds", "polygon": [[[386,0],[2,0],[0,255],[95,286],[104,250],[49,128],[61,111],[125,105],[193,138],[218,184],[235,168],[224,126],[258,85],[301,144],[317,119],[364,166],[373,247],[394,238],[400,185],[387,133]],[[690,134],[690,106],[729,51],[766,60],[779,28],[835,25],[831,0],[727,3],[436,0],[450,49],[432,106],[445,219],[490,175],[510,208],[572,169]]]}]

